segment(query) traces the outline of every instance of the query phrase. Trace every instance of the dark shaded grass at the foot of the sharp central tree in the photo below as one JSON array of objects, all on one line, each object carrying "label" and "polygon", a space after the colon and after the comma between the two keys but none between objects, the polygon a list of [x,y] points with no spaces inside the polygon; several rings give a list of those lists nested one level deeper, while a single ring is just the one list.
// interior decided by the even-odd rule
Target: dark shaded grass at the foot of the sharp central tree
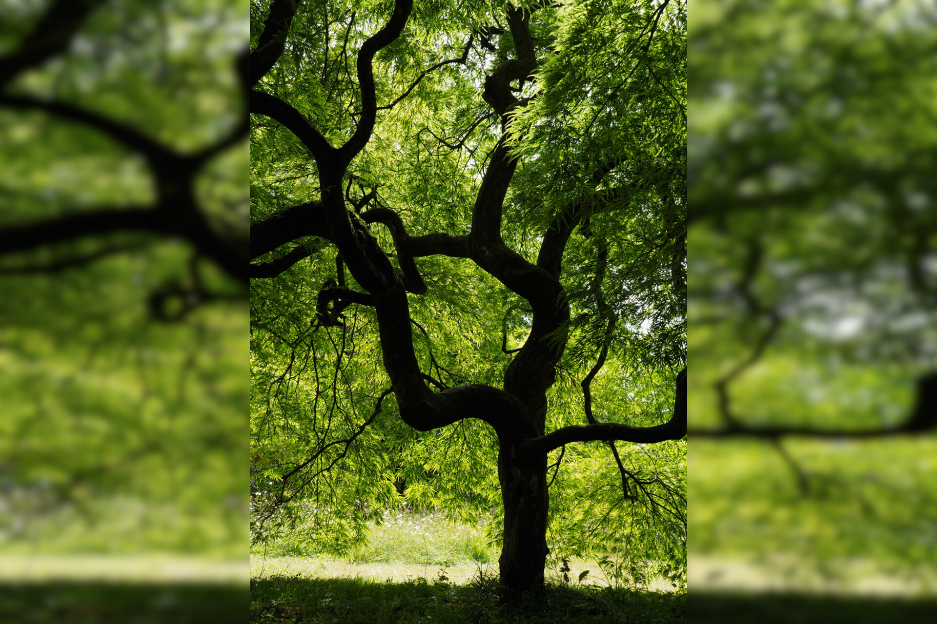
[{"label": "dark shaded grass at the foot of the sharp central tree", "polygon": [[686,594],[551,587],[519,604],[501,601],[495,582],[376,583],[360,578],[273,576],[251,579],[251,622],[391,624],[685,623]]}]

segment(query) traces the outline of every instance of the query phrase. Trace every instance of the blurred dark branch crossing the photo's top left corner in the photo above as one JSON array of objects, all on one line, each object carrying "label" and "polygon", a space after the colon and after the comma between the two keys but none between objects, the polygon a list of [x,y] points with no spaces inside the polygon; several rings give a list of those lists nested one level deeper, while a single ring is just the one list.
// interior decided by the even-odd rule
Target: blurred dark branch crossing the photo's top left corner
[{"label": "blurred dark branch crossing the photo's top left corner", "polygon": [[67,50],[72,36],[103,0],[55,0],[19,48],[0,57],[0,86]]}]

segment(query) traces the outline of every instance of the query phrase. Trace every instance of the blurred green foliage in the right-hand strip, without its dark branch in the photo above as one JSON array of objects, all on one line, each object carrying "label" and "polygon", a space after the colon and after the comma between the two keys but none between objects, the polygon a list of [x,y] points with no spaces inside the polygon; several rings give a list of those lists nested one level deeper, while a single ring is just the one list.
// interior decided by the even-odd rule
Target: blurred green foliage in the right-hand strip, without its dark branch
[{"label": "blurred green foliage in the right-hand strip, without its dark branch", "polygon": [[932,429],[850,440],[937,368],[935,24],[930,2],[693,5],[691,437],[842,431],[695,440],[693,553],[937,561]]}]

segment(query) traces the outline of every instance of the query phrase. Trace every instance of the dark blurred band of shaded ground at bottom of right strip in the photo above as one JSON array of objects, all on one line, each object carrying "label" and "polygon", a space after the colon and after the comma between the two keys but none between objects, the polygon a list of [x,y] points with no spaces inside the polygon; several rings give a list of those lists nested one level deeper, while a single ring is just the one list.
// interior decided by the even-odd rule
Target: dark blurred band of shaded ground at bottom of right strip
[{"label": "dark blurred band of shaded ground at bottom of right strip", "polygon": [[937,621],[937,599],[701,593],[690,597],[693,624],[879,624]]}]

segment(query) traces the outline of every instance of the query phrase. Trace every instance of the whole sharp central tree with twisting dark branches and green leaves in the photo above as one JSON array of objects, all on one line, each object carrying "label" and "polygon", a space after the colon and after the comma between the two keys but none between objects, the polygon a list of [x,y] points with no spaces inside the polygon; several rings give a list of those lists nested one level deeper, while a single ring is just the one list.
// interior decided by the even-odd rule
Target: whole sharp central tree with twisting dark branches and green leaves
[{"label": "whole sharp central tree with twisting dark branches and green leaves", "polygon": [[[558,471],[605,441],[608,513],[643,503],[681,550],[685,445],[665,442],[686,372],[666,407],[662,372],[685,364],[685,20],[672,2],[252,3],[255,530],[305,501],[347,544],[399,491],[477,509],[499,489],[520,593],[543,585],[548,455]],[[633,406],[627,370],[659,385]],[[392,393],[399,420],[379,419]]]}]

